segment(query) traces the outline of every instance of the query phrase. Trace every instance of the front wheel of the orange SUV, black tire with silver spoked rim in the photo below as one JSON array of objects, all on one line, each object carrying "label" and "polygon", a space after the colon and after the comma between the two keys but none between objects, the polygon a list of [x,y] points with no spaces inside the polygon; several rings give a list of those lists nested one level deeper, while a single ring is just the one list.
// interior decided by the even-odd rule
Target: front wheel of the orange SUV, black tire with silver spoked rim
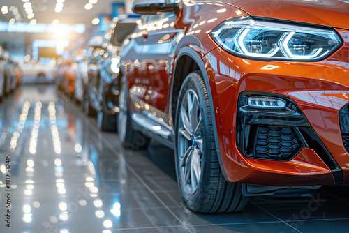
[{"label": "front wheel of the orange SUV, black tire with silver spoked rim", "polygon": [[190,73],[181,86],[175,120],[177,181],[188,209],[199,213],[240,211],[248,197],[242,195],[241,184],[226,181],[221,172],[209,97],[198,71]]}]

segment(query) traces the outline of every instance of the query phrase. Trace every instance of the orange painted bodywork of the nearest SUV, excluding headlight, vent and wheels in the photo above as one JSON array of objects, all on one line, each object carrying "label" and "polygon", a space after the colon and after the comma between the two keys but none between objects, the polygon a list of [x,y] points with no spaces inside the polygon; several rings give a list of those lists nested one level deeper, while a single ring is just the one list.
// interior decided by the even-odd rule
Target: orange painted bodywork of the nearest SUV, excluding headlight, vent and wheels
[{"label": "orange painted bodywork of the nearest SUV, excluding headlight, vent and wheels", "polygon": [[[348,20],[338,20],[343,15],[348,17],[345,8],[348,4],[343,5],[339,1],[324,2],[337,2],[342,9],[332,4],[326,11],[322,6],[313,5],[313,11],[307,11],[308,16],[304,16],[304,22],[348,28]],[[295,9],[299,12],[305,10],[308,3],[304,3],[302,9],[302,3],[296,3],[299,7],[281,1],[280,12],[283,15],[278,13],[275,17],[302,23],[292,13],[295,13]],[[144,22],[124,43],[121,69],[127,77],[131,112],[143,114],[154,126],[162,127],[165,123],[164,128],[172,127],[174,133],[171,121],[175,107],[172,103],[178,98],[174,94],[174,80],[176,70],[181,70],[181,66],[177,67],[177,61],[182,56],[188,56],[198,64],[209,89],[210,108],[216,126],[214,133],[218,158],[226,179],[234,183],[267,186],[307,186],[341,181],[348,183],[349,154],[343,147],[338,114],[349,103],[349,31],[336,29],[343,45],[321,61],[242,59],[221,49],[209,33],[225,20],[245,16],[247,13],[253,17],[265,17],[257,11],[260,6],[269,6],[269,1],[195,1],[183,4],[175,16],[164,17],[165,21],[160,19],[156,23]],[[286,14],[288,10],[290,13]],[[338,18],[331,15],[334,11],[339,12]],[[321,17],[323,22],[316,22],[316,17],[321,14],[325,14]],[[338,22],[334,24],[333,19]],[[292,99],[341,167],[341,181],[334,177],[333,170],[321,156],[306,147],[291,160],[283,162],[243,156],[237,148],[235,131],[237,99],[242,91],[276,93]],[[154,96],[151,96],[153,93]],[[174,137],[165,140],[173,142]]]}]

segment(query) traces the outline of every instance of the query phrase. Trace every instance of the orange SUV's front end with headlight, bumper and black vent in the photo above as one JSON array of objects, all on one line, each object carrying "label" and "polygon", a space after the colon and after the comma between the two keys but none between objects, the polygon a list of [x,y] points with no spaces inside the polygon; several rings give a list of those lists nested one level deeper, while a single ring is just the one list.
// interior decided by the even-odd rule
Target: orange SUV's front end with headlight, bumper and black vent
[{"label": "orange SUV's front end with headlight, bumper and black vent", "polygon": [[[214,80],[226,178],[262,186],[348,183],[349,25],[341,20],[332,25],[335,12],[348,17],[348,3],[327,13],[313,4],[305,22],[295,22],[287,1],[274,17],[255,10],[262,3],[242,3],[246,12],[229,3],[214,6],[221,13],[214,29],[207,26],[210,15],[189,31],[209,33],[209,40],[200,38],[210,49],[202,60]],[[207,12],[212,8],[198,5]],[[323,25],[315,24],[314,15]]]}]

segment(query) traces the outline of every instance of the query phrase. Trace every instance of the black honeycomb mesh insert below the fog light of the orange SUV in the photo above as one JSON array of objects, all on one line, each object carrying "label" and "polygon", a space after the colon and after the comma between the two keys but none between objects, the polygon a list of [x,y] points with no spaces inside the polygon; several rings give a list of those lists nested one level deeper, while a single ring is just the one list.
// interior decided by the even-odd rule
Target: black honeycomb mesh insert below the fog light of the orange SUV
[{"label": "black honeycomb mesh insert below the fog light of the orange SUV", "polygon": [[293,128],[258,126],[255,153],[252,157],[289,160],[301,149],[302,142]]}]

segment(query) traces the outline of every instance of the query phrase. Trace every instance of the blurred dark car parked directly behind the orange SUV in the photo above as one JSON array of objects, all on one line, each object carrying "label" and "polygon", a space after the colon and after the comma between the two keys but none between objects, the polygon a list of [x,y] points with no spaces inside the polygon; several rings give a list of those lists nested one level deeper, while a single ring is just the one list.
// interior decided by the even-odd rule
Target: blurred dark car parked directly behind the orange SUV
[{"label": "blurred dark car parked directly behind the orange SUV", "polygon": [[101,130],[116,130],[119,112],[119,71],[121,45],[140,22],[139,18],[115,17],[104,34],[102,47],[96,48],[88,65],[89,82],[85,110],[97,112],[97,125]]}]

